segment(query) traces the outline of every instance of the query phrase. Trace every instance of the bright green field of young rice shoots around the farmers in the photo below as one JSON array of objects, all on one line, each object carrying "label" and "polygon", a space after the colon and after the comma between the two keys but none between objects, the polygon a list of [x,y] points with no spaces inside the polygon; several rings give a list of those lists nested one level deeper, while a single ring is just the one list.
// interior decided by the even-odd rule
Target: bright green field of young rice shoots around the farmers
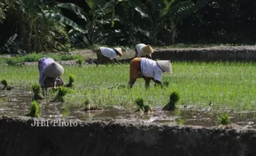
[{"label": "bright green field of young rice shoots around the farmers", "polygon": [[[238,108],[253,110],[256,106],[256,64],[235,62],[173,62],[173,74],[164,73],[163,81],[169,85],[163,89],[145,89],[142,79],[133,89],[123,86],[129,81],[129,65],[65,67],[64,82],[69,75],[75,76],[75,92],[68,94],[67,106],[80,106],[89,99],[97,105],[133,105],[134,100],[143,98],[145,103],[164,106],[169,95],[176,91],[181,99],[178,104],[211,106],[216,109]],[[0,68],[0,80],[6,79],[13,86],[31,89],[38,82],[37,67]],[[119,86],[119,87],[118,87]]]}]

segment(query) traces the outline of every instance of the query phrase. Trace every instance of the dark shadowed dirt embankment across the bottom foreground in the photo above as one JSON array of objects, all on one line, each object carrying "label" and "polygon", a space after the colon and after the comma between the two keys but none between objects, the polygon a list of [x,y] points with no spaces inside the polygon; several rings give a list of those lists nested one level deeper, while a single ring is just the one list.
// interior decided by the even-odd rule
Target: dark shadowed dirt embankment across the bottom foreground
[{"label": "dark shadowed dirt embankment across the bottom foreground", "polygon": [[[69,122],[69,121],[63,121]],[[5,155],[256,155],[256,131],[241,127],[157,126],[128,121],[33,127],[30,117],[0,118]],[[74,126],[74,124],[77,124]],[[62,124],[62,123],[61,123]]]}]

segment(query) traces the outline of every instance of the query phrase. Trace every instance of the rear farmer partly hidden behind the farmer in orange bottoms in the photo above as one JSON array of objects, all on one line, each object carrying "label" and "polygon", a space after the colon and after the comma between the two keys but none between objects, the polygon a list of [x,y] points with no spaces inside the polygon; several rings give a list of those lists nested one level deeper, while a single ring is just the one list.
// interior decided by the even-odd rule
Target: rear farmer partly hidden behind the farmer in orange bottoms
[{"label": "rear farmer partly hidden behind the farmer in orange bottoms", "polygon": [[154,53],[154,50],[150,45],[137,44],[135,46],[135,57],[147,57],[151,59],[152,53]]}]

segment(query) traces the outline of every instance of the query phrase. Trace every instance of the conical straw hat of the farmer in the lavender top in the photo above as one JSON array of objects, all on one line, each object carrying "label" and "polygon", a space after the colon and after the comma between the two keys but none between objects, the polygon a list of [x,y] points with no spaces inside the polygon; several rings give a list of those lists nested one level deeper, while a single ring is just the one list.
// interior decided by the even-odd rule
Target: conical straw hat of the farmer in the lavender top
[{"label": "conical straw hat of the farmer in the lavender top", "polygon": [[59,77],[64,73],[64,68],[59,63],[52,62],[43,69],[43,72],[45,76]]}]

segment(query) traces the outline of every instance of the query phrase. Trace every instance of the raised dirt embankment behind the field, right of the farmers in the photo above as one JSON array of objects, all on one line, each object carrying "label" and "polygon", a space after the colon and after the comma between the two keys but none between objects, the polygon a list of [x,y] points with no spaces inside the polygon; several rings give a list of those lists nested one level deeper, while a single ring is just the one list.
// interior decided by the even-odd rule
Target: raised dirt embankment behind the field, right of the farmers
[{"label": "raised dirt embankment behind the field, right of the farmers", "polygon": [[256,46],[156,49],[153,59],[171,61],[256,61]]}]

